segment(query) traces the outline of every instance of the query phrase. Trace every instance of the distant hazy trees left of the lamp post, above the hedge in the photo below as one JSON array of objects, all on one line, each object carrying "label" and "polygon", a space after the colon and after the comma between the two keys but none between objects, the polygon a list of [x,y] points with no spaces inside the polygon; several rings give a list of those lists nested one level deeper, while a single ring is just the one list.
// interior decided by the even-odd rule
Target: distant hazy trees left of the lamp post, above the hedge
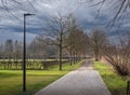
[{"label": "distant hazy trees left of the lamp post, above the hedge", "polygon": [[0,45],[0,58],[17,60],[22,58],[22,42],[9,39]]}]

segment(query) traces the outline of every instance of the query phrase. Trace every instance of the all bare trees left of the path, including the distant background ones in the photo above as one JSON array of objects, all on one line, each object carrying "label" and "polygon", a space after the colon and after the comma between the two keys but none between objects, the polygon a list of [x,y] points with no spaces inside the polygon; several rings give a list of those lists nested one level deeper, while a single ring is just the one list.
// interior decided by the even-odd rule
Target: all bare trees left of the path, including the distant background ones
[{"label": "all bare trees left of the path, including the distant background ones", "polygon": [[[72,14],[53,16],[47,24],[46,33],[38,35],[26,48],[27,59],[69,58],[70,65],[86,57],[90,39]],[[6,40],[0,46],[1,58],[17,62],[23,58],[22,42]]]}]

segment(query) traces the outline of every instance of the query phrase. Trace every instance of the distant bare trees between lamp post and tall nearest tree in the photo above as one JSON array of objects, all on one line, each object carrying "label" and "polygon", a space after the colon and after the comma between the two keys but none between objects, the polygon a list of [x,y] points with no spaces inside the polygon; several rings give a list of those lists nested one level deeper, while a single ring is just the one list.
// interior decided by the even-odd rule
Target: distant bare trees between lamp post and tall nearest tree
[{"label": "distant bare trees between lamp post and tall nearest tree", "polygon": [[44,35],[38,35],[36,38],[28,44],[28,58],[37,59],[47,59],[54,58],[54,55],[57,51],[53,42],[50,42],[50,39]]}]

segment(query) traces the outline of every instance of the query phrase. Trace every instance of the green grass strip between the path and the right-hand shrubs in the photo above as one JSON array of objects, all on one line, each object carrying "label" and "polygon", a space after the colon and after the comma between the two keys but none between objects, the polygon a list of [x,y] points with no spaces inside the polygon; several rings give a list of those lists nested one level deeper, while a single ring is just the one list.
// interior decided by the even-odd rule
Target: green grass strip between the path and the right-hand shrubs
[{"label": "green grass strip between the path and the right-hand shrubs", "polygon": [[100,71],[112,95],[126,95],[126,78],[119,77],[109,66],[101,62],[94,62],[94,69]]}]

